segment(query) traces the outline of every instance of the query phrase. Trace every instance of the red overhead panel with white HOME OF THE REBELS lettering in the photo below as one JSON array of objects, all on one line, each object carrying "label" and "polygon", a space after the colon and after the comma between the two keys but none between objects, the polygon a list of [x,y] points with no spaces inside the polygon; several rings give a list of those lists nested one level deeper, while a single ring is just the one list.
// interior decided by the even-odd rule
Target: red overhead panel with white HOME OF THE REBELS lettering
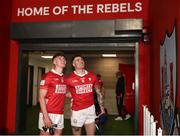
[{"label": "red overhead panel with white HOME OF THE REBELS lettering", "polygon": [[13,22],[145,18],[148,0],[13,0]]}]

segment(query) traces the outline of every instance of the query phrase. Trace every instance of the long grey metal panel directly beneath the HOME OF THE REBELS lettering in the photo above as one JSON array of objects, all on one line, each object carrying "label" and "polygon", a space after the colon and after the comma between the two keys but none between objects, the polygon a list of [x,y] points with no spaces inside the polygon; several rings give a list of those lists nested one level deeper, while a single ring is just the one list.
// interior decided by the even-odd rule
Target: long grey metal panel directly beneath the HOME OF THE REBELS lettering
[{"label": "long grey metal panel directly beneath the HOME OF THE REBELS lettering", "polygon": [[[13,23],[12,39],[119,37],[117,31],[142,30],[142,19]],[[122,36],[128,36],[122,35]],[[131,35],[130,35],[131,36]]]}]

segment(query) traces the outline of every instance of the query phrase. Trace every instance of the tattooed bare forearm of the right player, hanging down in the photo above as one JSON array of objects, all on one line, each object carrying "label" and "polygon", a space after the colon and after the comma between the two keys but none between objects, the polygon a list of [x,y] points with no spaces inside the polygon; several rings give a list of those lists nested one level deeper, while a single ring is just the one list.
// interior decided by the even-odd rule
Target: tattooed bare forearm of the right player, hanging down
[{"label": "tattooed bare forearm of the right player, hanging down", "polygon": [[100,89],[100,87],[98,85],[95,86],[95,91],[97,94],[97,100],[98,100],[98,104],[101,108],[101,113],[104,113],[104,95]]}]

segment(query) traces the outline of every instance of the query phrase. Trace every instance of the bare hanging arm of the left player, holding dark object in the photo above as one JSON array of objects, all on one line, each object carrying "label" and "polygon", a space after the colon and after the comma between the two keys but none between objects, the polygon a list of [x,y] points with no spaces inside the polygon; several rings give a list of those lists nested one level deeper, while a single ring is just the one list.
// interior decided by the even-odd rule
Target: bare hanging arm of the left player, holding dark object
[{"label": "bare hanging arm of the left player, holding dark object", "polygon": [[40,107],[41,107],[41,111],[43,113],[43,119],[44,119],[44,124],[45,127],[51,127],[52,126],[52,121],[49,118],[47,109],[46,109],[46,94],[47,94],[47,90],[45,89],[40,89],[39,91],[39,103],[40,103]]}]

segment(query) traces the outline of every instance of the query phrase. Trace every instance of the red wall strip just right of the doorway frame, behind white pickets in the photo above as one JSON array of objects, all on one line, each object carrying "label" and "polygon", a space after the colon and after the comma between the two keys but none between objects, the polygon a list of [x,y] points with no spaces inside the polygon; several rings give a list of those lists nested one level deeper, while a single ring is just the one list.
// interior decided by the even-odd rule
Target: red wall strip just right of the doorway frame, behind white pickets
[{"label": "red wall strip just right of the doorway frame, behind white pickets", "polygon": [[150,107],[150,45],[139,43],[139,134],[143,135],[143,105]]}]

